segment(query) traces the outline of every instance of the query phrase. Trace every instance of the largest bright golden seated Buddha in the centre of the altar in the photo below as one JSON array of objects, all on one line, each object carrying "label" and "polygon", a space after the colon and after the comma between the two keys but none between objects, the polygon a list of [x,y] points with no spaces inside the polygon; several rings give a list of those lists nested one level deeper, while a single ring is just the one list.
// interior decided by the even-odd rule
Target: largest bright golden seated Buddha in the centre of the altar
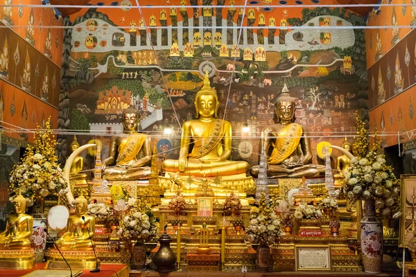
[{"label": "largest bright golden seated Buddha in the centre of the altar", "polygon": [[[215,89],[205,75],[204,86],[195,98],[196,118],[182,125],[182,139],[178,160],[166,160],[166,172],[192,176],[232,176],[248,170],[245,161],[228,161],[232,150],[232,129],[227,120],[216,118],[219,107]],[[189,145],[193,144],[191,153]]]}]

